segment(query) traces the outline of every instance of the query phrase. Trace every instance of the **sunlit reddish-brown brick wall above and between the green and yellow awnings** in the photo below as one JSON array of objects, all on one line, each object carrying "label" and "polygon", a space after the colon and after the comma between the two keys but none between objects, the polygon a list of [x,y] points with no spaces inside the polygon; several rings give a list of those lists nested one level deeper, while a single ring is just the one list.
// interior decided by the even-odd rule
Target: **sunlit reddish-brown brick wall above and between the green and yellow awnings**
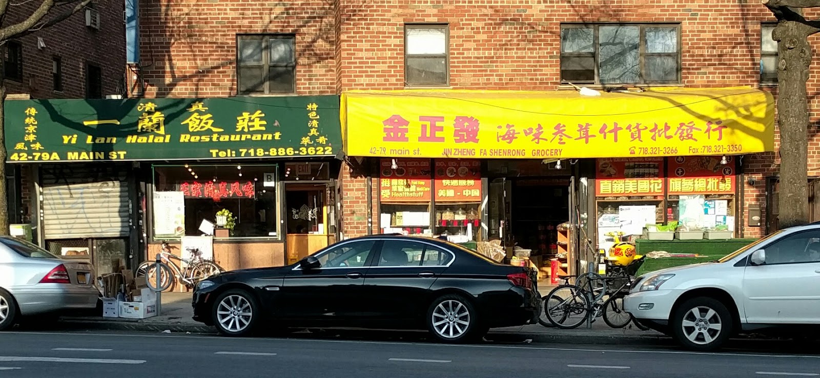
[{"label": "sunlit reddish-brown brick wall above and between the green and yellow awnings", "polygon": [[[809,10],[807,16],[820,16],[820,12]],[[589,81],[572,81],[599,88],[602,81],[616,82],[618,74],[635,76],[634,80],[626,80],[627,84],[700,88],[748,85],[776,92],[776,84],[761,83],[761,57],[767,55],[762,51],[762,26],[772,21],[771,12],[757,2],[727,0],[687,3],[339,0],[298,4],[236,0],[194,4],[153,0],[140,4],[142,68],[131,79],[142,80],[147,97],[339,94],[351,89],[405,89],[412,87],[405,71],[407,26],[434,25],[445,30],[445,51],[420,48],[417,52],[422,56],[439,53],[444,57],[445,71],[438,74],[444,75],[445,80],[440,85],[427,85],[428,88],[573,90],[566,80],[569,75],[581,79],[592,75]],[[639,71],[614,72],[618,70],[616,67],[605,73],[591,69],[589,62],[576,61],[576,71],[567,70],[567,77],[563,77],[563,58],[571,61],[572,54],[563,57],[562,30],[576,25],[634,25],[638,33],[633,42],[635,54],[640,54],[636,55],[641,61],[636,63]],[[657,30],[658,27],[666,27],[665,32],[671,33],[667,37],[672,35],[670,38],[675,42],[666,47],[658,47],[658,43],[647,47],[647,29],[657,37],[664,33]],[[596,31],[593,41],[599,39],[599,33],[612,32]],[[274,42],[268,38],[292,38],[293,60],[289,61],[288,54],[282,55],[280,50],[276,50],[276,58],[265,55],[274,49]],[[257,54],[253,48],[246,53],[240,39],[259,39],[268,47],[261,48],[264,54]],[[581,48],[576,52],[585,51]],[[663,77],[651,72],[649,58],[642,55],[646,52],[658,53],[652,57],[652,64],[663,66],[666,70]],[[594,61],[597,59],[594,56],[590,59],[593,59],[592,65],[599,63]],[[281,74],[282,70],[294,66],[294,71],[289,71],[294,72],[292,90],[280,90],[281,87],[273,90],[288,81],[272,83],[276,81],[271,80],[275,61],[276,70],[280,70],[276,75],[285,75]],[[814,73],[820,72],[817,65],[815,62],[812,66]],[[764,66],[766,70],[771,68],[772,60],[767,60]],[[260,73],[262,71],[266,73]],[[260,79],[253,79],[253,75],[260,75]],[[660,77],[660,80],[654,83],[649,80],[652,77]],[[243,78],[250,79],[244,81]],[[811,75],[810,94],[820,90],[818,80],[818,75]],[[814,112],[820,100],[811,96],[810,101],[813,120],[817,120]],[[814,129],[810,127],[810,175],[820,168],[820,139]],[[777,140],[775,143],[777,145]],[[744,157],[744,182],[737,192],[742,196],[744,210],[738,216],[744,218],[741,222],[744,225],[749,206],[761,207],[763,214],[767,213],[767,178],[777,175],[777,165],[776,153]],[[344,236],[366,234],[368,227],[371,232],[377,231],[371,220],[378,214],[373,198],[379,193],[377,185],[369,184],[367,178],[372,177],[368,172],[375,167],[376,162],[371,159],[353,157],[343,165],[339,178],[344,193]],[[759,227],[743,227],[742,235],[755,237],[765,231],[764,220]]]}]

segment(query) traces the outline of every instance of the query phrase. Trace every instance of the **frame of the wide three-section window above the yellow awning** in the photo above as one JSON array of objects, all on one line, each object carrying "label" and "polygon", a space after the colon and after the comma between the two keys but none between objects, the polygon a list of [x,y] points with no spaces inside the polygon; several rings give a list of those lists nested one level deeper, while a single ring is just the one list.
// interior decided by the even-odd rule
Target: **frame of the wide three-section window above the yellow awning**
[{"label": "frame of the wide three-section window above the yellow awning", "polygon": [[[599,28],[600,26],[637,26],[638,27],[638,81],[635,83],[601,83],[600,81],[600,41],[599,41]],[[676,49],[677,52],[646,52],[646,29],[647,28],[669,28],[676,30]],[[565,29],[591,29],[593,30],[593,51],[592,52],[563,52],[563,38],[562,32]],[[572,84],[590,84],[590,85],[599,85],[599,86],[622,86],[622,85],[635,85],[635,86],[665,86],[665,85],[677,85],[681,84],[682,81],[682,53],[681,53],[681,24],[680,23],[668,23],[668,22],[659,22],[659,23],[590,23],[590,24],[576,24],[576,23],[567,23],[561,24],[560,30],[558,31],[558,40],[559,40],[559,47],[558,47],[558,75],[560,76],[561,84],[570,84],[571,81],[564,80],[562,74],[562,66],[563,66],[563,58],[564,57],[592,57],[593,64],[594,64],[594,80],[583,80],[583,81],[572,81]],[[649,81],[646,80],[646,57],[676,57],[677,60],[677,75],[676,80],[673,81]]]}]

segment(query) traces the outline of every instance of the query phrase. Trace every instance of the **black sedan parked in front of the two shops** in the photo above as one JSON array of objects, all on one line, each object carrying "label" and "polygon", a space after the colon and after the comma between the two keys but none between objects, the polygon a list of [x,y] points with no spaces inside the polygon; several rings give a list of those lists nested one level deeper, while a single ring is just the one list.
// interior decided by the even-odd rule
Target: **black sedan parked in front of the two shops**
[{"label": "black sedan parked in front of the two shops", "polygon": [[445,342],[538,321],[535,270],[440,239],[373,235],[291,266],[229,271],[198,283],[194,320],[223,335],[304,327],[430,330]]}]

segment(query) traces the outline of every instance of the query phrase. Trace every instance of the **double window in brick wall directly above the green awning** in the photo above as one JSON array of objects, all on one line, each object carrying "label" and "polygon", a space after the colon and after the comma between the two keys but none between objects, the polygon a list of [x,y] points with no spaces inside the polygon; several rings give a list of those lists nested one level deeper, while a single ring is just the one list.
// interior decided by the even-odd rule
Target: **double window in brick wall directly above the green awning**
[{"label": "double window in brick wall directly above the green awning", "polygon": [[239,93],[296,92],[296,38],[293,35],[239,36]]}]

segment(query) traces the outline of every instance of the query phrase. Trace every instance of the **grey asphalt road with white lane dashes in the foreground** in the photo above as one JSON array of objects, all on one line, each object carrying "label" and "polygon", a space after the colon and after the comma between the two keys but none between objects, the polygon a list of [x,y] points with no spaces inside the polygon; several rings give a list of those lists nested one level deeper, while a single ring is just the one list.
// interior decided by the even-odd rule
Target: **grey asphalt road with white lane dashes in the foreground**
[{"label": "grey asphalt road with white lane dashes in the foreground", "polygon": [[820,354],[668,347],[3,332],[0,376],[751,377],[820,376]]}]

